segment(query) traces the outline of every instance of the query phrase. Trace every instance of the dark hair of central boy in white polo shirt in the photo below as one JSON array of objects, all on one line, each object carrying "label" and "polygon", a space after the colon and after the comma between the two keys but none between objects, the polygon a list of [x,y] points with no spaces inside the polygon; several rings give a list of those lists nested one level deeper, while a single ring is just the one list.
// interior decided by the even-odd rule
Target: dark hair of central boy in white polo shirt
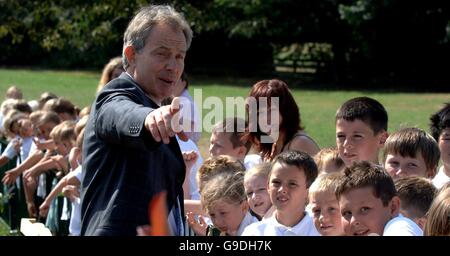
[{"label": "dark hair of central boy in white polo shirt", "polygon": [[309,188],[309,186],[311,186],[311,184],[317,178],[317,175],[319,173],[319,171],[317,169],[317,165],[314,162],[314,159],[310,155],[306,154],[305,152],[294,151],[294,150],[282,152],[281,154],[277,155],[275,157],[275,159],[273,160],[272,170],[273,170],[273,166],[277,163],[296,166],[297,168],[303,170],[303,172],[305,173],[305,177],[306,177],[307,188]]}]

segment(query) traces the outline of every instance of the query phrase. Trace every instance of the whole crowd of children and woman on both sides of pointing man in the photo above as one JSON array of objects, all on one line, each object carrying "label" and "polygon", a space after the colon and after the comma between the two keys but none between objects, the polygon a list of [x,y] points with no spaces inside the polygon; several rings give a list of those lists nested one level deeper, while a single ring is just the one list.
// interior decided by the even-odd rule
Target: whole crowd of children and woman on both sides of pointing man
[{"label": "whole crowd of children and woman on both sides of pointing man", "polygon": [[[174,97],[189,94],[183,79]],[[80,111],[51,93],[34,103],[22,97],[11,87],[1,105],[1,217],[12,230],[35,217],[54,235],[79,235],[89,108]],[[252,118],[225,118],[212,130],[204,161],[199,133],[179,140],[186,235],[450,235],[450,104],[431,115],[431,135],[415,127],[389,134],[380,102],[350,99],[336,113],[336,147],[320,150],[286,83],[256,83],[249,98],[261,97],[279,104],[247,104],[247,116],[277,122],[276,131]],[[189,119],[192,126],[197,118]]]}]

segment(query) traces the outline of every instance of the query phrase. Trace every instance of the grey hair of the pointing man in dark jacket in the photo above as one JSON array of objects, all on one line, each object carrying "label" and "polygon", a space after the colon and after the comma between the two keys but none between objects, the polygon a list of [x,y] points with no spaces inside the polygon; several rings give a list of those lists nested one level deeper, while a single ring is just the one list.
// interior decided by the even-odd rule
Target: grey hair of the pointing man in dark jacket
[{"label": "grey hair of the pointing man in dark jacket", "polygon": [[187,49],[189,49],[192,41],[192,30],[183,14],[175,11],[170,5],[143,7],[130,21],[123,36],[122,63],[125,70],[129,66],[125,56],[125,48],[132,45],[136,52],[142,50],[150,31],[159,23],[168,24],[174,29],[181,29],[186,38]]}]

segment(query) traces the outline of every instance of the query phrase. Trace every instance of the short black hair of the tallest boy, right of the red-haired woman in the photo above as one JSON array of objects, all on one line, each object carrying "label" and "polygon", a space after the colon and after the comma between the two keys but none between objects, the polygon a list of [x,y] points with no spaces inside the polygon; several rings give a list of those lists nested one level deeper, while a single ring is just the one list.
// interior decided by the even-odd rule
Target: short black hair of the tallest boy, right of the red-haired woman
[{"label": "short black hair of the tallest boy, right of the red-haired woman", "polygon": [[353,122],[359,119],[370,126],[375,134],[387,131],[388,114],[383,105],[369,97],[357,97],[346,101],[336,112],[336,121]]}]

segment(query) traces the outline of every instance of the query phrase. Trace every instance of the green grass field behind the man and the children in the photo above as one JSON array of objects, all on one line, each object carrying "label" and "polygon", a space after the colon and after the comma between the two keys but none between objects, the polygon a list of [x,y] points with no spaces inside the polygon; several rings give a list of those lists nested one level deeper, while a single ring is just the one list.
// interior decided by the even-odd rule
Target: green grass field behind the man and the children
[{"label": "green grass field behind the man and the children", "polygon": [[[79,107],[90,105],[94,100],[99,73],[48,70],[0,69],[0,92],[15,84],[22,89],[27,100],[38,98],[44,91],[72,100]],[[224,82],[225,81],[225,82]],[[202,89],[203,106],[205,99],[219,97],[225,103],[226,97],[245,97],[256,80],[224,80],[213,78],[191,78],[190,92]],[[321,147],[335,144],[334,114],[346,100],[356,96],[369,96],[379,100],[389,113],[389,131],[401,126],[416,126],[428,131],[429,116],[444,102],[450,102],[449,93],[397,93],[375,91],[338,91],[292,89],[300,107],[302,122],[306,131]],[[197,103],[199,104],[199,103]],[[203,109],[203,116],[211,109]],[[225,116],[225,113],[223,114]],[[200,149],[206,156],[209,133],[205,132],[200,141]]]}]

